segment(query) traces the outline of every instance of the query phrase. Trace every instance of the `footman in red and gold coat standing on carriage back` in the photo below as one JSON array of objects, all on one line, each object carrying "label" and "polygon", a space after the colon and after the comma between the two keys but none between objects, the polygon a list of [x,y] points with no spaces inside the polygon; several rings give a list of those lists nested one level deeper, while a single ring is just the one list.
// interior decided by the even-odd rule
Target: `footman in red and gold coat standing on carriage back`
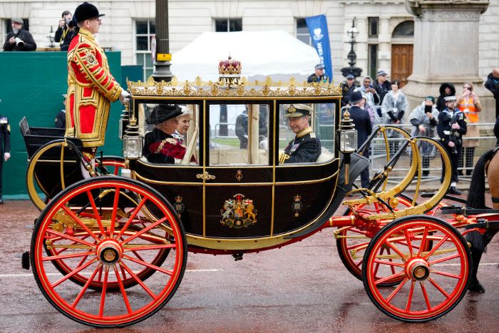
[{"label": "footman in red and gold coat standing on carriage back", "polygon": [[68,48],[66,136],[81,139],[88,159],[104,144],[110,103],[119,98],[125,104],[130,96],[111,75],[108,58],[94,37],[103,15],[88,2],[76,7],[78,33]]}]

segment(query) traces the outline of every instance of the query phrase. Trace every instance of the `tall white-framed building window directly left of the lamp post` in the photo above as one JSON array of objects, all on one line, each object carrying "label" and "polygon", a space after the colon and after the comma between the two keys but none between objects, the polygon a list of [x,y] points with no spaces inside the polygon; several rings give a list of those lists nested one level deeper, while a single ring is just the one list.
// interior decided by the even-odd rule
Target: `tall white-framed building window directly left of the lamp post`
[{"label": "tall white-framed building window directly left of the lamp post", "polygon": [[156,34],[156,24],[153,19],[135,21],[135,58],[142,65],[143,80],[153,74],[153,56],[151,40]]}]

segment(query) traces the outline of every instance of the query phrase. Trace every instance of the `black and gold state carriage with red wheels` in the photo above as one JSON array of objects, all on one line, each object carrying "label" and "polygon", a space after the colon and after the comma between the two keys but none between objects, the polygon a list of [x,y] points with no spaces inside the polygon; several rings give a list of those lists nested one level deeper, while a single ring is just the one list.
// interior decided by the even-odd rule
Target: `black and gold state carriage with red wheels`
[{"label": "black and gold state carriage with red wheels", "polygon": [[[338,227],[341,260],[364,281],[382,312],[424,322],[458,304],[471,269],[468,242],[456,227],[473,225],[476,218],[454,215],[448,223],[433,217],[450,184],[448,172],[425,202],[403,195],[415,180],[419,184],[422,142],[435,145],[450,170],[440,143],[378,128],[370,140],[385,138],[385,168],[369,189],[351,190],[368,161],[354,153],[355,130],[347,114],[341,119],[339,86],[225,79],[128,82],[123,158],[88,162],[78,139],[21,121],[29,195],[41,210],[29,257],[48,302],[83,324],[124,327],[150,317],[173,297],[187,251],[240,260],[247,252]],[[160,103],[192,112],[185,157],[174,164],[143,156],[143,136],[150,130],[145,120]],[[294,138],[284,113],[297,104],[313,110],[310,125],[321,153],[312,162],[287,163],[280,155]],[[230,124],[244,110],[246,145]],[[387,129],[405,140],[393,156]],[[359,153],[363,149],[369,144]],[[388,179],[401,155],[410,163],[393,185]],[[344,200],[349,192],[359,198]],[[334,216],[341,205],[346,212]]]}]

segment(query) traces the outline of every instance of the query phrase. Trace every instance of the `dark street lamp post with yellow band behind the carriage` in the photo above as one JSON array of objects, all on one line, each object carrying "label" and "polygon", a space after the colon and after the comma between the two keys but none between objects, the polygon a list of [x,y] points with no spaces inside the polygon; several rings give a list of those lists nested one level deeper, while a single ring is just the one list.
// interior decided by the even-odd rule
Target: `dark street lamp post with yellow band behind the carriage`
[{"label": "dark street lamp post with yellow band behind the carriage", "polygon": [[168,0],[156,0],[156,50],[153,63],[155,81],[172,81],[171,60],[170,39],[168,37]]}]

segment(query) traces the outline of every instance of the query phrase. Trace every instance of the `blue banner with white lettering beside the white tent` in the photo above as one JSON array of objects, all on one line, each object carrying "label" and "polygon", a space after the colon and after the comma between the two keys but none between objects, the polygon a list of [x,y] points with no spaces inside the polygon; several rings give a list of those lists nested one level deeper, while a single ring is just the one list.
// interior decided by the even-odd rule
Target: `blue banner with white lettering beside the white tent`
[{"label": "blue banner with white lettering beside the white tent", "polygon": [[329,46],[326,16],[323,14],[310,16],[307,17],[305,21],[307,21],[309,34],[312,37],[312,42],[319,54],[319,58],[321,58],[321,63],[326,67],[324,73],[329,78],[329,82],[331,82],[333,79],[333,66],[331,62],[331,47]]}]

